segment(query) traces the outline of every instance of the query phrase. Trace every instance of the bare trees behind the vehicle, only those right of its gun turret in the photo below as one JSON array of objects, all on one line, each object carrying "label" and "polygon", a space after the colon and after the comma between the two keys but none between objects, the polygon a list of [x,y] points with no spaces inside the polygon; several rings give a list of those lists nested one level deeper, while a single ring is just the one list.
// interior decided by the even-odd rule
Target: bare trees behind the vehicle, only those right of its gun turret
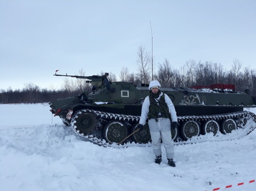
[{"label": "bare trees behind the vehicle, only those right of its gun turret", "polygon": [[[209,86],[215,83],[234,84],[236,91],[244,92],[250,89],[250,95],[256,95],[256,70],[250,66],[243,67],[239,59],[234,59],[232,69],[227,70],[221,63],[201,62],[188,60],[180,68],[174,68],[167,58],[162,63],[158,62],[158,69],[151,76],[151,54],[140,46],[137,51],[137,73],[129,73],[127,67],[123,67],[119,74],[121,81],[134,84],[149,83],[152,78],[160,82],[162,87],[184,87],[203,85]],[[154,64],[155,65],[155,64]],[[154,70],[154,68],[153,68]]]}]

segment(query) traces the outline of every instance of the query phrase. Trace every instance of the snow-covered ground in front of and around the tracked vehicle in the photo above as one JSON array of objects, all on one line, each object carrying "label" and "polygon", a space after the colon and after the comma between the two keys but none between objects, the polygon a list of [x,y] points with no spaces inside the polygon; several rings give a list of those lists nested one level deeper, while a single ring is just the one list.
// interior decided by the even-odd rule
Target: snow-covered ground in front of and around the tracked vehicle
[{"label": "snow-covered ground in front of and around the tracked vehicle", "polygon": [[52,118],[47,104],[0,110],[3,191],[256,190],[256,182],[249,183],[256,179],[256,130],[233,140],[175,145],[176,167],[170,167],[163,146],[158,165],[150,144],[105,148],[84,141]]}]

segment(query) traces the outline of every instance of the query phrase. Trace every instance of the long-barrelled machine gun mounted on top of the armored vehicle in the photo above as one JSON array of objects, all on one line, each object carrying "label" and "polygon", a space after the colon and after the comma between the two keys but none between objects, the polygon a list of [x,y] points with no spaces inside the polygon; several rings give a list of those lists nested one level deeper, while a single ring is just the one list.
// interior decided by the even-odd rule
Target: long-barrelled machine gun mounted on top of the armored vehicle
[{"label": "long-barrelled machine gun mounted on top of the armored vehicle", "polygon": [[88,79],[86,83],[92,84],[92,91],[95,91],[96,89],[100,88],[102,85],[105,84],[108,91],[111,91],[111,86],[108,79],[108,73],[106,72],[102,76],[93,75],[93,76],[77,76],[77,75],[60,75],[60,74],[53,74],[54,76],[66,76],[66,77],[72,77],[72,78],[80,78],[80,79]]}]

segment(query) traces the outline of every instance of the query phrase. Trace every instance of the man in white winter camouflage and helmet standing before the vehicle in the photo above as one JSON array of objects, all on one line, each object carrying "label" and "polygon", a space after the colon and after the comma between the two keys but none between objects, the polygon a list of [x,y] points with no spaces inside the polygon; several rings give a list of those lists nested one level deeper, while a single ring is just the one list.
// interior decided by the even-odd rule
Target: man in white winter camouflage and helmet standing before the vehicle
[{"label": "man in white winter camouflage and helmet standing before the vehicle", "polygon": [[[178,120],[173,102],[165,93],[161,92],[160,87],[161,85],[157,80],[150,82],[148,87],[150,89],[150,95],[147,96],[143,102],[138,127],[142,130],[148,118],[153,153],[155,154],[155,163],[160,164],[162,161],[162,139],[168,164],[175,167],[173,161],[174,144],[171,139],[171,128],[175,129],[177,127]],[[172,122],[170,122],[170,118]]]}]

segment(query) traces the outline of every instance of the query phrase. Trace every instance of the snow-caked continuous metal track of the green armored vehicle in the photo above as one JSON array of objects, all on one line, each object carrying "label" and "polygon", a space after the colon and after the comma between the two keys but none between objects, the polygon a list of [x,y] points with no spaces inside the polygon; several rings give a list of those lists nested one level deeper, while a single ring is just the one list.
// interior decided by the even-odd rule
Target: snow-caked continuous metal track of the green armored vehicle
[{"label": "snow-caked continuous metal track of the green armored vehicle", "polygon": [[[96,117],[96,119],[98,120],[98,124],[97,126],[95,126],[95,129],[102,129],[102,125],[99,122],[99,119],[103,119],[103,120],[116,120],[116,121],[127,121],[127,122],[132,122],[132,123],[137,123],[140,120],[140,116],[133,116],[133,115],[121,115],[121,114],[115,114],[115,113],[108,113],[108,112],[101,112],[101,111],[96,111],[96,110],[92,110],[92,109],[82,109],[79,110],[76,114],[74,114],[72,116],[71,119],[71,126],[72,129],[81,137],[83,137],[86,141],[90,141],[93,144],[97,144],[99,146],[103,146],[103,147],[116,147],[116,148],[121,148],[121,147],[129,147],[129,146],[147,146],[150,143],[146,143],[146,144],[140,144],[140,143],[135,143],[135,142],[125,142],[122,143],[120,145],[116,144],[116,143],[108,143],[106,142],[106,140],[97,137],[94,134],[91,133],[79,133],[79,130],[76,130],[76,126],[74,125],[75,122],[75,118],[77,117],[77,114],[81,114],[82,112],[94,115]],[[222,120],[222,119],[228,119],[228,118],[235,118],[235,119],[239,119],[239,117],[245,117],[245,116],[250,116],[250,118],[252,118],[253,120],[253,124],[246,124],[244,127],[239,126],[238,124],[238,129],[242,129],[243,132],[242,134],[236,134],[233,137],[230,137],[228,135],[225,135],[227,138],[225,140],[233,140],[233,139],[237,139],[237,138],[241,138],[249,133],[251,133],[255,128],[256,128],[256,115],[252,112],[249,111],[242,111],[242,112],[233,112],[233,113],[226,113],[226,114],[221,114],[221,115],[204,115],[204,116],[178,116],[178,123],[184,122],[184,121],[188,121],[188,120]],[[101,131],[101,130],[100,130]],[[216,136],[213,136],[216,137]],[[211,138],[204,136],[204,135],[200,135],[200,136],[194,136],[191,139],[188,139],[186,141],[180,140],[177,138],[177,142],[174,142],[174,145],[181,145],[181,144],[193,144],[193,143],[200,143],[200,142],[205,142],[205,141],[211,141]],[[219,140],[214,139],[214,141],[222,141],[223,137],[220,138]]]}]

